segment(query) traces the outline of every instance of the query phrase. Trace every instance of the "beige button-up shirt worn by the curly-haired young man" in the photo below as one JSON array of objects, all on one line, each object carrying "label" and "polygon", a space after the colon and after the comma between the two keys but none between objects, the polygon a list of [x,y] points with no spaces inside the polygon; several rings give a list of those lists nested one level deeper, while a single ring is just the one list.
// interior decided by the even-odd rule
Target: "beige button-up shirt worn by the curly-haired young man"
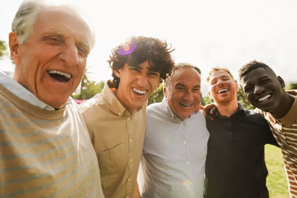
[{"label": "beige button-up shirt worn by the curly-haired young man", "polygon": [[97,154],[105,198],[132,198],[146,128],[146,104],[130,113],[108,83],[81,105]]}]

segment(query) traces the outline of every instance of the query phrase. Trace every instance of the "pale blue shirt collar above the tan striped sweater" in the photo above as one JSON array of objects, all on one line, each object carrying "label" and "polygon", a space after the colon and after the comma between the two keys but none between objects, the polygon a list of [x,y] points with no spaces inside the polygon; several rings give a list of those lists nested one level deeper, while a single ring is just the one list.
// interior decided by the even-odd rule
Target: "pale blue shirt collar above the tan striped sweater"
[{"label": "pale blue shirt collar above the tan striped sweater", "polygon": [[[40,99],[38,99],[33,93],[31,93],[28,89],[20,85],[17,81],[15,81],[13,78],[9,77],[8,75],[4,74],[3,72],[0,72],[0,84],[7,88],[8,91],[10,91],[12,94],[15,94],[20,99],[25,100],[26,102],[29,102],[30,104],[33,104],[37,107],[40,107],[44,110],[54,111],[56,110],[54,107],[45,104]],[[71,103],[71,98],[67,100],[66,104]]]}]

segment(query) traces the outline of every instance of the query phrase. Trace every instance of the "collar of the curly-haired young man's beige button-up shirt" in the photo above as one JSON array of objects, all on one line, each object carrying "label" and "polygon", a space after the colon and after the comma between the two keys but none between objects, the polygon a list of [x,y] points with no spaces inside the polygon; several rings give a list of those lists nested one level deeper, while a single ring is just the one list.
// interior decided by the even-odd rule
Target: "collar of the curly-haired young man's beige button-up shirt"
[{"label": "collar of the curly-haired young man's beige button-up shirt", "polygon": [[[121,104],[119,99],[113,94],[113,90],[115,88],[112,87],[112,84],[110,80],[106,81],[104,88],[102,90],[102,97],[105,99],[105,101],[109,104],[109,106],[112,108],[114,113],[116,113],[118,116],[122,116],[124,112],[126,111],[126,108]],[[133,113],[136,113],[142,109],[141,107],[138,107]]]}]

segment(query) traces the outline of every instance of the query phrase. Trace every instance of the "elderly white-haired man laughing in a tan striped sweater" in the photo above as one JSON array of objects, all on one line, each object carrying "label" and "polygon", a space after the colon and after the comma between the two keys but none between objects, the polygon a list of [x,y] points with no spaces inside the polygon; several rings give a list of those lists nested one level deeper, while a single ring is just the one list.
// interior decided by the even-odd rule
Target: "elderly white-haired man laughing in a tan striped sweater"
[{"label": "elderly white-haired man laughing in a tan striped sweater", "polygon": [[24,1],[12,22],[13,79],[0,73],[0,197],[104,197],[83,115],[70,97],[94,35],[73,9]]}]

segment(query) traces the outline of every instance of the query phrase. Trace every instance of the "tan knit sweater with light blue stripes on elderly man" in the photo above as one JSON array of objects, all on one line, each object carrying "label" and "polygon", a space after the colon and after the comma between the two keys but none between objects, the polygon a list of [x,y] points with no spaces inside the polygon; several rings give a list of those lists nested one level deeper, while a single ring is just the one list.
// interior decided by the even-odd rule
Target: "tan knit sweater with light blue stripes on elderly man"
[{"label": "tan knit sweater with light blue stripes on elderly man", "polygon": [[0,197],[104,197],[98,161],[72,100],[43,110],[0,85]]}]

